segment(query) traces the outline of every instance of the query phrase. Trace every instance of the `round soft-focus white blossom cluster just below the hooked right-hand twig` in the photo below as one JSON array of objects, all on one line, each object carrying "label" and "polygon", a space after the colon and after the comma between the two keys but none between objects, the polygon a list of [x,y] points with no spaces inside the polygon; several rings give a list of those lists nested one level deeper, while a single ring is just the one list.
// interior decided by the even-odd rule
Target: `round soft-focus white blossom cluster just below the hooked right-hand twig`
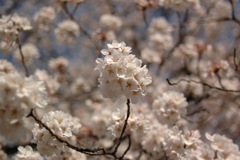
[{"label": "round soft-focus white blossom cluster just below the hooked right-hand twig", "polygon": [[153,109],[162,124],[173,125],[186,114],[187,105],[182,93],[168,91],[153,102]]}]

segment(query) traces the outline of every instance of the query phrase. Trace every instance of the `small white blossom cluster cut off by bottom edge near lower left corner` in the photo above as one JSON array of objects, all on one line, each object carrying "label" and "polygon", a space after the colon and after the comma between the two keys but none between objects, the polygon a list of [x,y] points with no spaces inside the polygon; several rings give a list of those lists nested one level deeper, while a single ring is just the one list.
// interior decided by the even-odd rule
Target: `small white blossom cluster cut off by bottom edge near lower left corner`
[{"label": "small white blossom cluster cut off by bottom edge near lower left corner", "polygon": [[14,160],[44,160],[39,152],[33,151],[31,146],[18,147],[18,153],[14,156]]}]

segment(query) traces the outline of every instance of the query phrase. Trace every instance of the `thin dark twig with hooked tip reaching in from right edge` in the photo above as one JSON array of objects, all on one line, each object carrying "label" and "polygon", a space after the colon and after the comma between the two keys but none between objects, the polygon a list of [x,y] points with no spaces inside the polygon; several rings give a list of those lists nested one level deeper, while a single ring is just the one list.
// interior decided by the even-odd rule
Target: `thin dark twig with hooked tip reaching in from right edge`
[{"label": "thin dark twig with hooked tip reaching in from right edge", "polygon": [[198,82],[198,81],[195,81],[195,80],[180,79],[177,82],[171,82],[169,79],[166,79],[166,80],[167,80],[168,84],[171,85],[171,86],[178,85],[181,82],[187,82],[187,83],[201,84],[203,86],[209,87],[211,89],[219,90],[219,91],[222,91],[222,92],[235,92],[235,93],[240,92],[240,90],[224,89],[224,88],[212,86],[212,85],[204,83],[204,82]]}]

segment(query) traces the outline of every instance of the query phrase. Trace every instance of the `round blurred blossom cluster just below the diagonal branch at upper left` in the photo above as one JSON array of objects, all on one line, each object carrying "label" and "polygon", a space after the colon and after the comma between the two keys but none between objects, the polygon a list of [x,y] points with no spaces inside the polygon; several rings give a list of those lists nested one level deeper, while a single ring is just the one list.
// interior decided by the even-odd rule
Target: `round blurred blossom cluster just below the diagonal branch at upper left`
[{"label": "round blurred blossom cluster just below the diagonal branch at upper left", "polygon": [[57,40],[63,44],[72,43],[80,34],[79,26],[72,20],[65,20],[54,30]]}]

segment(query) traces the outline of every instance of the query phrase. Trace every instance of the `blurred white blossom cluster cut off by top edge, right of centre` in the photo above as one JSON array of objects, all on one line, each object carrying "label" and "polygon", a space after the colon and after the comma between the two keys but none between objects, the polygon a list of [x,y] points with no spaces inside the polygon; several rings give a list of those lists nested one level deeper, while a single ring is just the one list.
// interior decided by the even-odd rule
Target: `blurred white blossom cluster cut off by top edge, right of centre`
[{"label": "blurred white blossom cluster cut off by top edge, right of centre", "polygon": [[184,10],[199,4],[199,0],[159,0],[159,5],[174,10]]}]

